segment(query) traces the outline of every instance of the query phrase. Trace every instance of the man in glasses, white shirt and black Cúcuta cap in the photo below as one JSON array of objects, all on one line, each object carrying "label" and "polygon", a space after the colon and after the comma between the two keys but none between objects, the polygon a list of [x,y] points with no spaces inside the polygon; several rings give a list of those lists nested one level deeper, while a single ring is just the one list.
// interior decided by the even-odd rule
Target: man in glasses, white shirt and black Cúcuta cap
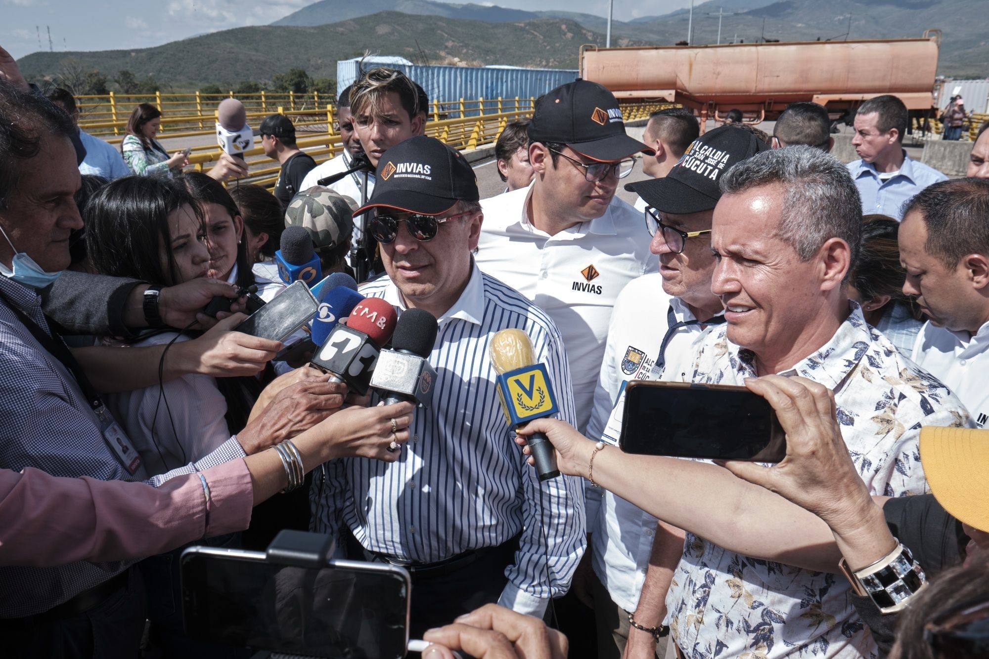
[{"label": "man in glasses, white shirt and black C\u00facuta cap", "polygon": [[[748,131],[721,126],[684,150],[719,164],[723,161],[724,166],[714,170],[720,174],[767,148]],[[692,160],[681,158],[665,178],[625,187],[637,193],[648,208],[647,226],[653,234],[650,249],[659,255],[660,272],[629,283],[615,302],[587,424],[586,435],[592,439],[617,445],[628,380],[689,380],[690,373],[685,371],[694,360],[694,340],[708,325],[724,322],[721,299],[711,292],[711,217],[721,190],[718,177],[712,179],[706,167],[693,166]],[[683,533],[610,492],[601,498],[600,490],[594,490],[587,494],[587,531],[591,534],[589,585],[597,620],[596,656],[618,659],[627,642],[630,650],[643,650],[637,656],[656,651],[663,657],[666,629],[661,629],[660,622],[666,589],[650,583],[643,590],[643,585],[651,562],[670,564],[680,554],[675,542],[656,542],[658,552],[673,555],[654,556],[655,535],[682,538]],[[599,507],[594,506],[597,499]],[[643,599],[655,597],[649,608],[653,618],[629,616],[636,611],[640,591]]]}]

